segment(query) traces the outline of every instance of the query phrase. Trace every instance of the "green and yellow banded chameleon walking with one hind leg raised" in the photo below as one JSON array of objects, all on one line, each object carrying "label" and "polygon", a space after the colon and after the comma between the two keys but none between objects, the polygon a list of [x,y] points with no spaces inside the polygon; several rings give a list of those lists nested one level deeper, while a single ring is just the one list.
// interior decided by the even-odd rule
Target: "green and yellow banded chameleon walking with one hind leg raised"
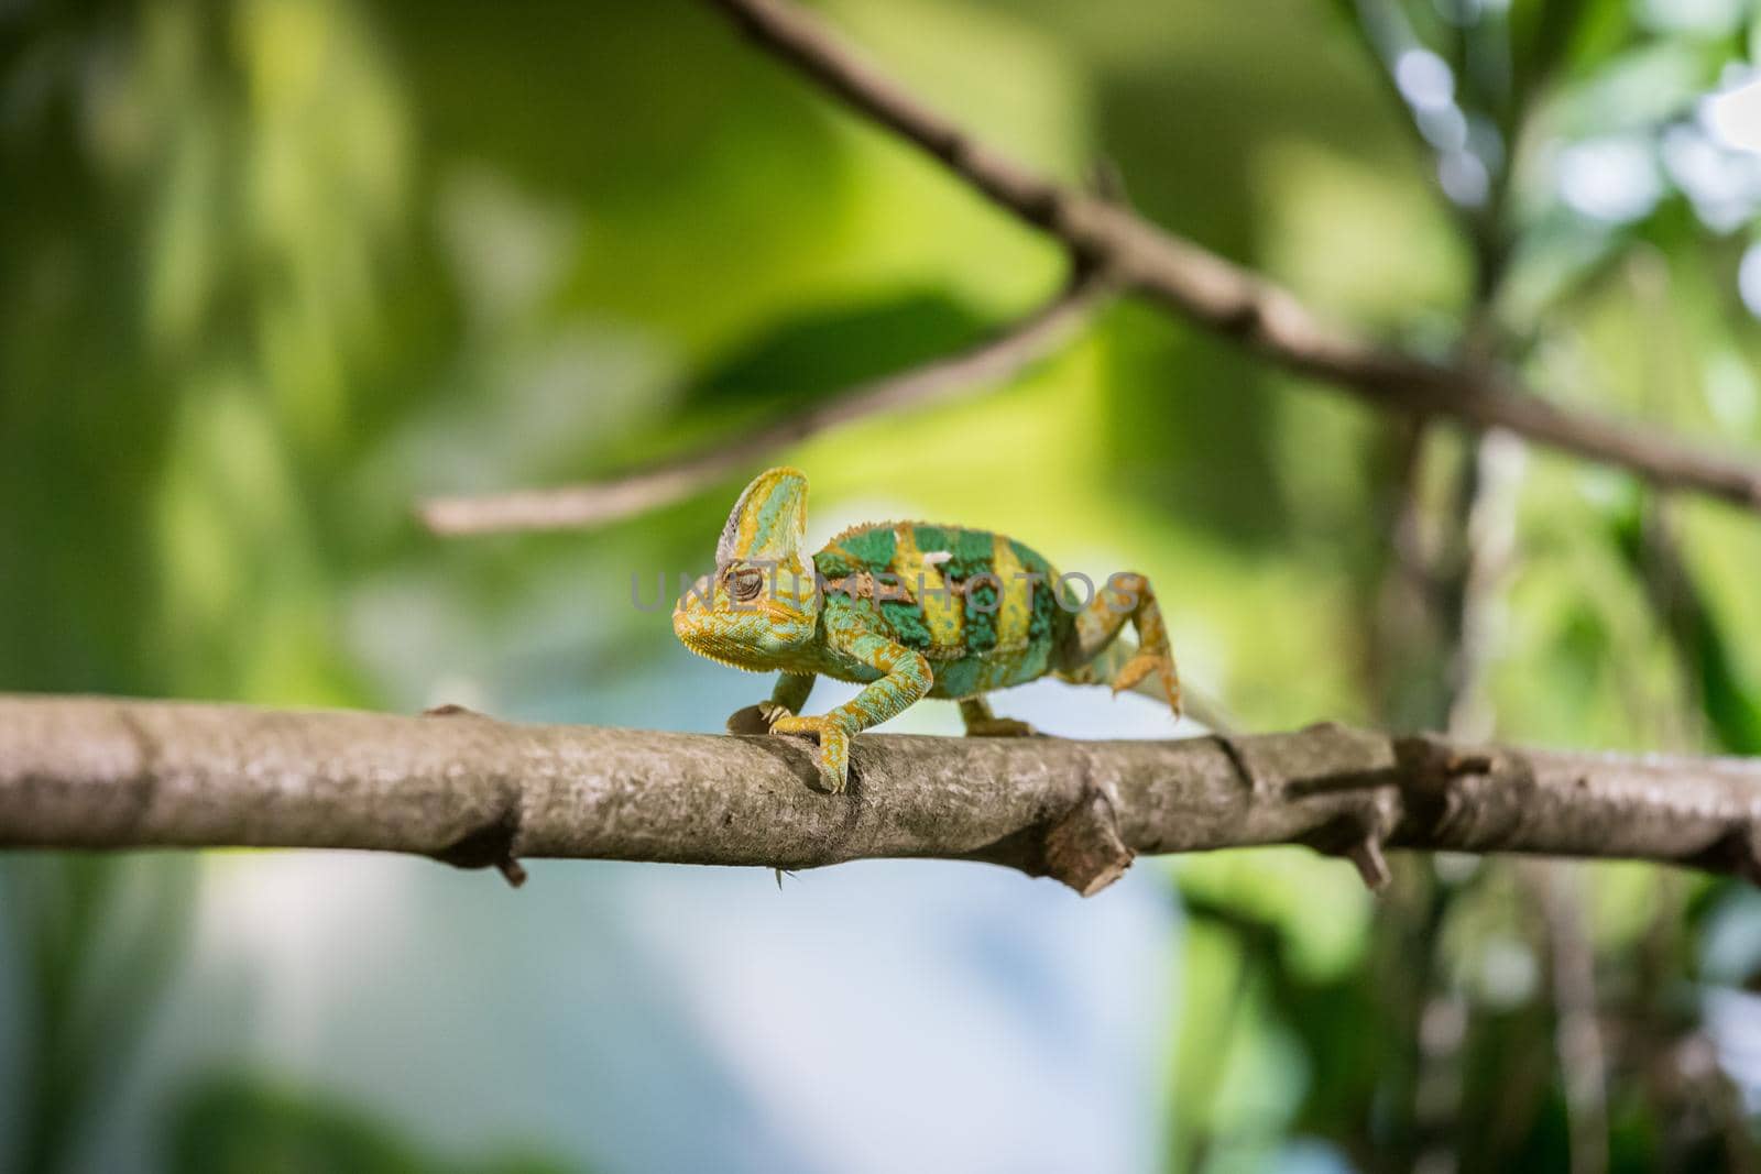
[{"label": "green and yellow banded chameleon walking with one hind leg raised", "polygon": [[[1048,674],[1115,693],[1146,686],[1180,713],[1168,632],[1143,576],[1115,574],[1081,600],[1051,563],[1000,533],[872,523],[808,558],[805,530],[807,477],[761,473],[727,516],[715,574],[673,609],[673,630],[710,660],[782,672],[757,715],[773,734],[819,737],[833,794],[849,778],[851,737],[923,697],[958,701],[974,736],[1032,734],[991,715],[984,693]],[[1138,644],[1120,639],[1127,620]],[[817,676],[866,688],[803,716]]]}]

